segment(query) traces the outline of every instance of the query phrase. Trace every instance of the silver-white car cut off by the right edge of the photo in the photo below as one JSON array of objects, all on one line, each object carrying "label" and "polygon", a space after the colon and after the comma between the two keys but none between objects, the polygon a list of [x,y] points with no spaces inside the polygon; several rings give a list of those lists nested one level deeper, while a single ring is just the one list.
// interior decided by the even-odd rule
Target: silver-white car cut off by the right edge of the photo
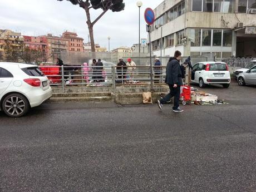
[{"label": "silver-white car cut off by the right edge of the photo", "polygon": [[237,78],[238,85],[256,85],[256,65],[243,73],[239,73]]}]

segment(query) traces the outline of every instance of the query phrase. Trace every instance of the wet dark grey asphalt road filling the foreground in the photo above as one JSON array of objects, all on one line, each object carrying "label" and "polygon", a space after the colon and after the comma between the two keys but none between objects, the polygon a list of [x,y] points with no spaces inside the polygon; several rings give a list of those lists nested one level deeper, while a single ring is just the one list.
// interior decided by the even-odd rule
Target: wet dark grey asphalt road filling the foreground
[{"label": "wet dark grey asphalt road filling the foreground", "polygon": [[0,191],[256,191],[256,87],[229,105],[44,104],[0,112]]}]

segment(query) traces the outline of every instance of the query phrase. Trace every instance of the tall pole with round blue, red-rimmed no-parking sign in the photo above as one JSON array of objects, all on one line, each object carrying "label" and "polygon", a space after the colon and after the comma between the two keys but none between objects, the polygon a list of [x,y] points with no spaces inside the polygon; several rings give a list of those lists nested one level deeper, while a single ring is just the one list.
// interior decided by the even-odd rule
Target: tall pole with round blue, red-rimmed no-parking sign
[{"label": "tall pole with round blue, red-rimmed no-parking sign", "polygon": [[147,32],[149,32],[149,52],[150,52],[150,89],[153,91],[153,72],[152,72],[152,55],[151,55],[151,24],[155,22],[155,13],[151,8],[146,8],[144,18],[147,23]]}]

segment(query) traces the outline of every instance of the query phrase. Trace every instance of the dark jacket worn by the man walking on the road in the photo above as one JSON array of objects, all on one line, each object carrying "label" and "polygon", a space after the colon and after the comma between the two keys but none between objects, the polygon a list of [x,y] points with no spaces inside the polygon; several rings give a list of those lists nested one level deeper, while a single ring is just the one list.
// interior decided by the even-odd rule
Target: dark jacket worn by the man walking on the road
[{"label": "dark jacket worn by the man walking on the road", "polygon": [[171,57],[167,63],[165,83],[183,85],[180,63],[175,57]]}]

